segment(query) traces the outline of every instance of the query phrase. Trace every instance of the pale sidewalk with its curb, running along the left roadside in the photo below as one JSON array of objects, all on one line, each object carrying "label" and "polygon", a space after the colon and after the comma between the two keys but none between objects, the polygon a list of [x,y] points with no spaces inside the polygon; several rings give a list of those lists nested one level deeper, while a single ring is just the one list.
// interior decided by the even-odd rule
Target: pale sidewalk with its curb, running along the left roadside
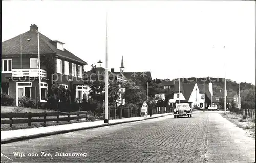
[{"label": "pale sidewalk with its curb, running along the left roadside", "polygon": [[108,124],[104,124],[104,120],[99,120],[94,122],[80,122],[80,123],[73,123],[73,124],[66,124],[66,125],[1,131],[1,144],[22,141],[24,139],[38,138],[38,137],[49,136],[54,134],[78,131],[83,129],[116,125],[120,123],[143,121],[146,119],[153,119],[153,118],[163,117],[163,116],[172,115],[172,114],[173,113],[165,113],[165,114],[155,114],[155,115],[152,115],[152,117],[147,115],[147,117],[131,117],[131,118],[115,119],[115,120],[109,120]]}]

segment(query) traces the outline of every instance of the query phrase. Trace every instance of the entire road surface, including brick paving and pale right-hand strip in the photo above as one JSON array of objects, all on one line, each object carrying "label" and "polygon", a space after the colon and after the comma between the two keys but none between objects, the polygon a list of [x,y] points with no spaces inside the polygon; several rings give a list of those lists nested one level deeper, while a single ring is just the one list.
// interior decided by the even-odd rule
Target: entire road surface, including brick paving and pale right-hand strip
[{"label": "entire road surface, including brick paving and pale right-hand strip", "polygon": [[248,163],[255,161],[255,139],[217,112],[194,112],[3,144],[1,154],[2,162]]}]

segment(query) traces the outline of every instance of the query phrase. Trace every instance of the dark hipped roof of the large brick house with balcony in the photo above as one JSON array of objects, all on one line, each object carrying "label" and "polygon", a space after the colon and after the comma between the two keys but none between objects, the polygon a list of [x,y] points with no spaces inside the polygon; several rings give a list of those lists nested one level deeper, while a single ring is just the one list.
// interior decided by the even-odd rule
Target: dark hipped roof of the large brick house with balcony
[{"label": "dark hipped roof of the large brick house with balcony", "polygon": [[[36,30],[33,30],[32,27],[35,27]],[[56,53],[58,56],[63,58],[80,62],[83,65],[87,64],[85,61],[75,56],[68,50],[64,49],[62,51],[57,49],[57,47],[52,44],[54,41],[41,34],[37,30],[38,27],[36,25],[31,25],[31,29],[29,31],[2,42],[2,55],[20,55],[20,53],[38,54],[37,33],[39,33],[40,54]],[[22,49],[21,52],[20,49]]]}]

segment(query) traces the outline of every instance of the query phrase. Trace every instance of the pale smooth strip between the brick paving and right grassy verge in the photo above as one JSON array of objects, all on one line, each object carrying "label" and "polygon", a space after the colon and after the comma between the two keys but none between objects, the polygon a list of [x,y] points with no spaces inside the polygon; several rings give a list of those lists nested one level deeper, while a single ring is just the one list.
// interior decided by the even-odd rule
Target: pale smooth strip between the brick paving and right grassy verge
[{"label": "pale smooth strip between the brick paving and right grassy verge", "polygon": [[242,128],[210,114],[205,157],[207,162],[255,162],[255,139]]}]

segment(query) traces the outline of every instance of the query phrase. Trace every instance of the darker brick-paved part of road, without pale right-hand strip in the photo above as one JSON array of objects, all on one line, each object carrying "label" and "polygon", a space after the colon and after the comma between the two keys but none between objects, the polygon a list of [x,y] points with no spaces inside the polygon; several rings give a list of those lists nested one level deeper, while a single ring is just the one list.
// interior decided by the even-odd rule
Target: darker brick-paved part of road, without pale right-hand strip
[{"label": "darker brick-paved part of road, without pale right-hand strip", "polygon": [[[170,115],[3,144],[1,153],[15,162],[204,162],[210,114],[216,113],[195,112],[192,118],[179,119]],[[15,157],[13,152],[18,151],[26,157]],[[42,151],[52,157],[41,157]],[[56,152],[87,156],[56,157]],[[29,153],[38,157],[28,157]],[[1,161],[8,162],[4,158]]]}]

